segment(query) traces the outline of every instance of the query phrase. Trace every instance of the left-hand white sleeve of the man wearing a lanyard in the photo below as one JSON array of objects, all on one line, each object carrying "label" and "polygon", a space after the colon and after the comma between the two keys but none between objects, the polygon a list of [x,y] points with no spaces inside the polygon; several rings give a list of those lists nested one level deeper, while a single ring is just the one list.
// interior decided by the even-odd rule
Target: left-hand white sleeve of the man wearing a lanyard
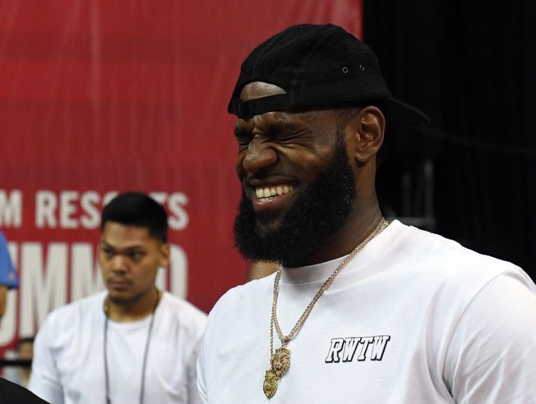
[{"label": "left-hand white sleeve of the man wearing a lanyard", "polygon": [[56,360],[49,341],[52,340],[50,318],[40,328],[33,343],[33,360],[29,390],[54,404],[63,404],[63,389]]}]

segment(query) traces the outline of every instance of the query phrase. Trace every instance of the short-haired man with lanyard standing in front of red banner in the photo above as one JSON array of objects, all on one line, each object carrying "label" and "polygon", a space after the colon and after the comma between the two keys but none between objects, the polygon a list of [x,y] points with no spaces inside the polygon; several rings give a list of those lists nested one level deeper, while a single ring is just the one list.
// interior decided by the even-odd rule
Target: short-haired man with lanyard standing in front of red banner
[{"label": "short-haired man with lanyard standing in front of red banner", "polygon": [[34,344],[29,389],[54,404],[198,403],[206,315],[155,287],[169,263],[168,217],[141,192],[102,211],[107,288],[49,314]]}]

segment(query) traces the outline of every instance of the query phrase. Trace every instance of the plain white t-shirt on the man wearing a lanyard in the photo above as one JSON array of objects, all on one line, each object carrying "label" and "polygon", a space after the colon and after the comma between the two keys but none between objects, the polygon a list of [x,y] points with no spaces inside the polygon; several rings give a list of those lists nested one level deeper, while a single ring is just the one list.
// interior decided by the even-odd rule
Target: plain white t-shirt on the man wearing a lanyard
[{"label": "plain white t-shirt on the man wearing a lanyard", "polygon": [[[34,344],[29,389],[53,404],[106,403],[104,291],[49,314]],[[155,311],[145,370],[144,399],[199,403],[195,364],[206,315],[163,293]],[[109,320],[107,355],[114,404],[140,401],[143,353],[150,316],[131,323]]]}]

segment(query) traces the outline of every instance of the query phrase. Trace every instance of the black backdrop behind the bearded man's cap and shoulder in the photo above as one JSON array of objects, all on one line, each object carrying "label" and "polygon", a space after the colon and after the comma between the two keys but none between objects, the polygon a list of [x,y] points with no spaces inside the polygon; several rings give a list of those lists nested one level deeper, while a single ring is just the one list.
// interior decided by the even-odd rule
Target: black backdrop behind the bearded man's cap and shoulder
[{"label": "black backdrop behind the bearded man's cap and shoulder", "polygon": [[533,279],[535,15],[532,1],[365,0],[363,38],[395,98],[432,121],[388,130],[378,171],[384,213]]}]

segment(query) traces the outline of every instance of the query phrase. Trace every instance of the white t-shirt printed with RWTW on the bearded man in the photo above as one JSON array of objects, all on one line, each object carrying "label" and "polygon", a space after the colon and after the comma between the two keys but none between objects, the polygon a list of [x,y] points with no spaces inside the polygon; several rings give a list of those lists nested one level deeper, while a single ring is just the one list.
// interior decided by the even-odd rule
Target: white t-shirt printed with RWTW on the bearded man
[{"label": "white t-shirt printed with RWTW on the bearded man", "polygon": [[[343,258],[283,268],[283,334]],[[198,359],[205,403],[268,403],[274,276],[233,288],[210,313]],[[536,286],[511,263],[395,221],[287,348],[270,404],[536,403]]]}]

